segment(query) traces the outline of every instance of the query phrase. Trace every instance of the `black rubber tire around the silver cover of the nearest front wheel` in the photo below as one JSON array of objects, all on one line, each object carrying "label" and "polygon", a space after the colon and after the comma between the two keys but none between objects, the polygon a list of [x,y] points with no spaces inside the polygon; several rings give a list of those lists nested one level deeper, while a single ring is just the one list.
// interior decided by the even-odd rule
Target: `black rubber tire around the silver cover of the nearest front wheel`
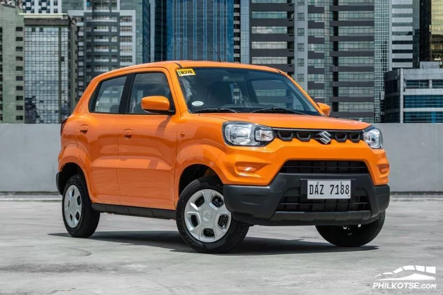
[{"label": "black rubber tire around the silver cover of the nearest front wheel", "polygon": [[194,238],[185,223],[185,207],[190,197],[199,190],[213,189],[223,193],[223,184],[218,177],[200,177],[192,181],[180,194],[177,204],[176,223],[183,240],[190,247],[201,253],[226,253],[238,246],[249,231],[249,224],[231,219],[229,229],[221,239],[214,242],[202,242]]}]

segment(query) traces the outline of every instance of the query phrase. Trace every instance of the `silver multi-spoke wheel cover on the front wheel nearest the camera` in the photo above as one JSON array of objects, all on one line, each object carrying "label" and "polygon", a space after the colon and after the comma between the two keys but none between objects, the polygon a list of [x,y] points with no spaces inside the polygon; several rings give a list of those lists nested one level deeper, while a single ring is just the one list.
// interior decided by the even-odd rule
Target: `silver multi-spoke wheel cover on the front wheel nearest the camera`
[{"label": "silver multi-spoke wheel cover on the front wheel nearest the camera", "polygon": [[202,189],[193,194],[185,207],[185,224],[197,240],[212,243],[221,239],[231,224],[231,212],[221,193]]}]

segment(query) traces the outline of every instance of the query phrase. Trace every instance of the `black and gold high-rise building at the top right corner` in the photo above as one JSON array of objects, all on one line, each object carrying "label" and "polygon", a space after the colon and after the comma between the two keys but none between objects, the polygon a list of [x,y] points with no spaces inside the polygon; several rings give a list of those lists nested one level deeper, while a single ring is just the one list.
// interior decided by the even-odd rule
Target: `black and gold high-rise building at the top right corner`
[{"label": "black and gold high-rise building at the top right corner", "polygon": [[420,61],[443,60],[442,15],[442,0],[421,0]]}]

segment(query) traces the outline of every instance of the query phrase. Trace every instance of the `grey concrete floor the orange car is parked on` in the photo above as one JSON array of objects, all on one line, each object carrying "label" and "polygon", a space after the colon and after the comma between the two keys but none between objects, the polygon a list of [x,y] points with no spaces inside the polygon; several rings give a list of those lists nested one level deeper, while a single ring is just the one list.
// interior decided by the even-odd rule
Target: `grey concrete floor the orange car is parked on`
[{"label": "grey concrete floor the orange car is parked on", "polygon": [[[193,252],[172,220],[102,214],[66,235],[59,202],[0,202],[0,294],[443,294],[443,200],[397,200],[380,235],[337,248],[314,227],[251,228],[235,253]],[[374,276],[436,266],[436,290],[373,290]]]}]

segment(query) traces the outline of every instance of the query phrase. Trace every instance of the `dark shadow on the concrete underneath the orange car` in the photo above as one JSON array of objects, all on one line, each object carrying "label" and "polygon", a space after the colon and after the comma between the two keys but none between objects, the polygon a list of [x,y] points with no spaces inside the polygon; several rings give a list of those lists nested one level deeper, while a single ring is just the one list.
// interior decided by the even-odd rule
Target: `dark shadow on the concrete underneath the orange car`
[{"label": "dark shadow on the concrete underneath the orange car", "polygon": [[[48,234],[50,236],[70,237],[66,233]],[[124,245],[153,246],[171,251],[192,253],[193,251],[176,231],[125,231],[95,232],[89,239],[122,243]],[[378,246],[336,247],[328,242],[311,242],[303,239],[279,239],[265,237],[246,237],[234,251],[223,255],[256,256],[279,254],[333,253],[377,250]]]}]

